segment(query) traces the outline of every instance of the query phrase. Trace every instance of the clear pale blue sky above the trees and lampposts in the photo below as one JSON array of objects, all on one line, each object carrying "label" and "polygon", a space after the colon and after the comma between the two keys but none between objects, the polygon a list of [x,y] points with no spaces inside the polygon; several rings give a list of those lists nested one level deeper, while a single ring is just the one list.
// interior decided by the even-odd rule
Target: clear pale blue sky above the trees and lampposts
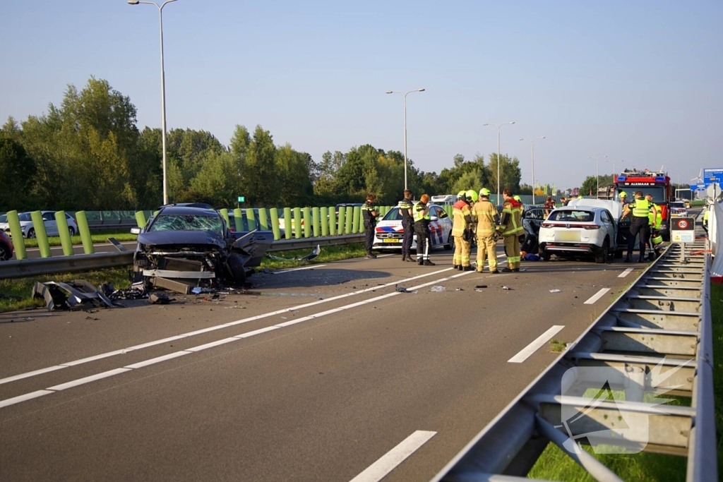
[{"label": "clear pale blue sky above the trees and lampposts", "polygon": [[[124,0],[5,1],[0,117],[107,79],[160,126],[158,11]],[[199,1],[163,9],[169,128],[228,144],[261,124],[321,159],[372,144],[424,171],[497,150],[531,181],[574,187],[588,156],[688,182],[722,167],[721,1]],[[615,165],[619,170],[620,163]],[[600,163],[612,173],[612,163]]]}]

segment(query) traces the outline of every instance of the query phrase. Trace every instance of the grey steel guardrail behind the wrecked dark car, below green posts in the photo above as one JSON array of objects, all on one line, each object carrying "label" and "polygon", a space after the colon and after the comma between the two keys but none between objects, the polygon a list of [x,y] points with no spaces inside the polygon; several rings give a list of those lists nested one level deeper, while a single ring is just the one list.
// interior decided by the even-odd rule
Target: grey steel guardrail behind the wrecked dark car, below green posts
[{"label": "grey steel guardrail behind the wrecked dark car, below green posts", "polygon": [[[289,251],[291,249],[312,249],[316,246],[335,246],[364,241],[363,234],[327,236],[304,240],[274,241],[267,251]],[[0,262],[0,280],[19,277],[52,275],[62,272],[103,270],[133,264],[134,251],[95,253],[82,256],[59,256],[35,259],[20,259]]]}]

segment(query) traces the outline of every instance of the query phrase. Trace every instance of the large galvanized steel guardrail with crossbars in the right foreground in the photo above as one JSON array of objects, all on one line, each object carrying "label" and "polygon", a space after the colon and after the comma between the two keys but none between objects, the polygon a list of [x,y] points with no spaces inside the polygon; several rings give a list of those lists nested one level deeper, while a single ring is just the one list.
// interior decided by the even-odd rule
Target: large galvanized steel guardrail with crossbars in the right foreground
[{"label": "large galvanized steel guardrail with crossbars in the right foreground", "polygon": [[[669,246],[432,480],[526,481],[549,442],[598,481],[622,479],[578,442],[688,457],[688,482],[719,480],[705,251],[701,240]],[[607,387],[623,399],[593,398]],[[651,399],[666,391],[690,406]]]}]

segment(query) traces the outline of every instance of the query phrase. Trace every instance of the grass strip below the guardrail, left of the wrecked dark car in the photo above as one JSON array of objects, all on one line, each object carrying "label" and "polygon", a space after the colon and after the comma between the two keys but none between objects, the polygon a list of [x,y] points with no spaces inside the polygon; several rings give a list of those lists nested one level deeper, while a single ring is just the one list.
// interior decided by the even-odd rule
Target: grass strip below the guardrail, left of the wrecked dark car
[{"label": "grass strip below the guardrail, left of the wrecked dark car", "polygon": [[0,280],[0,313],[14,311],[17,309],[45,306],[42,299],[30,298],[33,292],[33,285],[36,282],[86,280],[95,285],[111,283],[117,289],[128,288],[130,280],[127,268],[116,270],[87,271],[77,273],[66,273],[64,275],[43,275],[37,277],[23,277],[17,280]]}]

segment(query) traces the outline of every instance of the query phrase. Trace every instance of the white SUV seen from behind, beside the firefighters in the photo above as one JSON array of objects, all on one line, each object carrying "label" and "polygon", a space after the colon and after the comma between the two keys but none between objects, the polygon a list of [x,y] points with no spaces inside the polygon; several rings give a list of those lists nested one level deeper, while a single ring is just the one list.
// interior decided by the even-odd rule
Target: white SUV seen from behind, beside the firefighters
[{"label": "white SUV seen from behind, beside the firefighters", "polygon": [[607,262],[619,249],[621,214],[619,202],[605,199],[573,199],[567,206],[557,207],[540,225],[540,257],[592,256],[595,262]]}]

